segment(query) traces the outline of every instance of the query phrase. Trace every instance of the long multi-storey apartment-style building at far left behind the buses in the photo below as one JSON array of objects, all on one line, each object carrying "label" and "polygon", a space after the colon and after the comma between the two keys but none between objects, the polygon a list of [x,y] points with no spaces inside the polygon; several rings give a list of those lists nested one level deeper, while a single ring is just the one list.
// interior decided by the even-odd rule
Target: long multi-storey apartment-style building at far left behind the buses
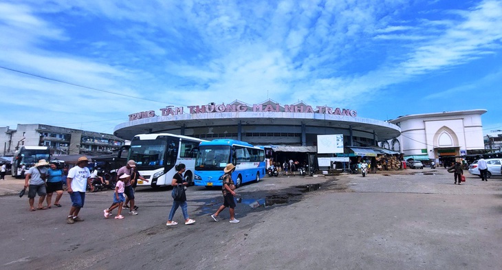
[{"label": "long multi-storey apartment-style building at far left behind the buses", "polygon": [[52,155],[105,155],[124,145],[124,139],[106,133],[45,124],[0,127],[1,155],[14,155],[21,146],[49,146]]}]

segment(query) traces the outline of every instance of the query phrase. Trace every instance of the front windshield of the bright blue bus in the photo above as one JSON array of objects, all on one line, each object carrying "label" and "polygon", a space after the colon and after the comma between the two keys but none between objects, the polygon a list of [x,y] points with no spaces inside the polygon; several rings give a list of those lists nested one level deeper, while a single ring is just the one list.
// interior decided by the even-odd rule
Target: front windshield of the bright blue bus
[{"label": "front windshield of the bright blue bus", "polygon": [[230,162],[230,146],[199,146],[195,170],[223,170]]}]

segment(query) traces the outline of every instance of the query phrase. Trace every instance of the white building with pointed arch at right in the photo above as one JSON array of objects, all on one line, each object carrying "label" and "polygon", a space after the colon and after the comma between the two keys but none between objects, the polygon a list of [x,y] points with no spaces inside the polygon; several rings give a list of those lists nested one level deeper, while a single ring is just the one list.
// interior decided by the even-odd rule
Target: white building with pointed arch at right
[{"label": "white building with pointed arch at right", "polygon": [[405,115],[390,122],[401,128],[397,139],[404,159],[437,162],[441,157],[483,153],[483,113],[486,110],[444,111]]}]

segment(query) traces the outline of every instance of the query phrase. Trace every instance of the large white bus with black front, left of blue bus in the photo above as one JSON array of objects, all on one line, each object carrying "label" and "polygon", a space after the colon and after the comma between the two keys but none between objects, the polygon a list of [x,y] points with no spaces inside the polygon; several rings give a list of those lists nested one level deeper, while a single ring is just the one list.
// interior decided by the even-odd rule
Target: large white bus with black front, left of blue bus
[{"label": "large white bus with black front, left of blue bus", "polygon": [[185,164],[184,179],[193,184],[195,157],[199,143],[196,139],[168,133],[140,134],[131,140],[128,159],[136,161],[136,169],[149,182],[138,179],[138,185],[171,185],[176,173],[175,165]]}]

